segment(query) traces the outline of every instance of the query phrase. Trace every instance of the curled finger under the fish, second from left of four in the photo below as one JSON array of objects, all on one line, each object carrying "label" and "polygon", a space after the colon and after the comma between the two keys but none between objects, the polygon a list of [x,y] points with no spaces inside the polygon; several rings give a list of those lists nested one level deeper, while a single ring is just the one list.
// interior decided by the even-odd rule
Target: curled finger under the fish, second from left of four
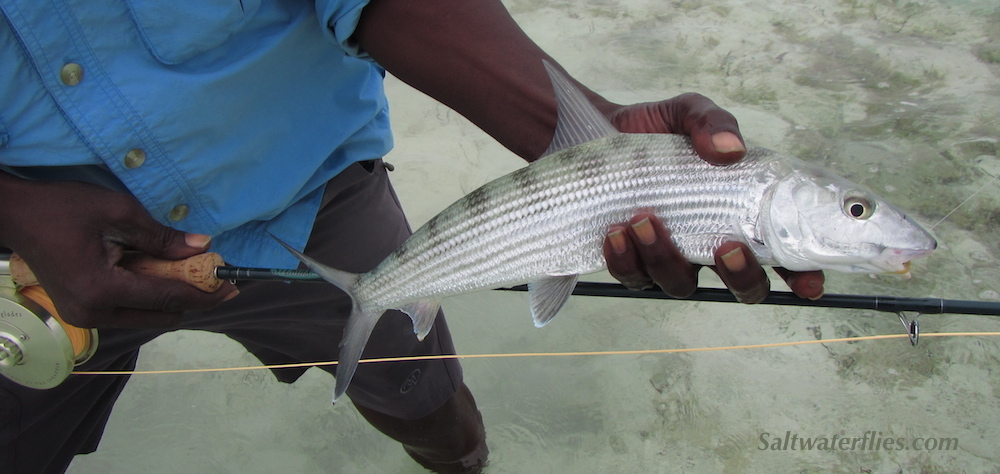
[{"label": "curled finger under the fish, second from left of four", "polygon": [[698,268],[684,258],[659,218],[642,213],[629,221],[628,234],[646,274],[664,293],[686,298],[698,288]]}]

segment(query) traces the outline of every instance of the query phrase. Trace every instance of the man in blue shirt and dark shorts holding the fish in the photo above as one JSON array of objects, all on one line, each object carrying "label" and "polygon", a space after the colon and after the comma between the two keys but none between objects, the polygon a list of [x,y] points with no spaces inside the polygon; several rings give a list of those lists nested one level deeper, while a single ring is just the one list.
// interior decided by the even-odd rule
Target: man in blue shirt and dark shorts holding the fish
[{"label": "man in blue shirt and dark shorts holding the fish", "polygon": [[[337,359],[351,299],[332,287],[203,293],[117,263],[125,250],[182,259],[211,246],[237,265],[294,267],[274,235],[338,269],[370,270],[410,234],[379,160],[392,145],[385,70],[528,161],[556,129],[552,59],[498,0],[76,3],[0,0],[0,246],[27,261],[67,322],[101,330],[82,370],[129,370],[142,344],[176,328],[224,333],[267,364]],[[717,165],[746,151],[732,115],[700,95],[621,106],[582,91],[623,132],[689,135]],[[608,227],[611,273],[690,294],[697,268],[669,226],[637,209]],[[741,301],[767,294],[745,243],[722,244],[715,262]],[[781,274],[798,295],[822,295],[821,272]],[[418,341],[390,311],[365,355],[453,351],[443,317]],[[0,466],[62,471],[96,450],[126,381],[0,381]],[[369,364],[346,394],[429,469],[486,462],[455,360]]]}]

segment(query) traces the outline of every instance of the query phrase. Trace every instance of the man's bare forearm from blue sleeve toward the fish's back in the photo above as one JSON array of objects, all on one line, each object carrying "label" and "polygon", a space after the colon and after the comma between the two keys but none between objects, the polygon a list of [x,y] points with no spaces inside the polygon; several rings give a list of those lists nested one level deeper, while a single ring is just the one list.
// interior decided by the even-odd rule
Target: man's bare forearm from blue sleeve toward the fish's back
[{"label": "man's bare forearm from blue sleeve toward the fish's back", "polygon": [[[355,38],[393,75],[521,157],[548,147],[556,105],[542,59],[552,59],[499,0],[372,0]],[[605,114],[617,107],[584,90]]]}]

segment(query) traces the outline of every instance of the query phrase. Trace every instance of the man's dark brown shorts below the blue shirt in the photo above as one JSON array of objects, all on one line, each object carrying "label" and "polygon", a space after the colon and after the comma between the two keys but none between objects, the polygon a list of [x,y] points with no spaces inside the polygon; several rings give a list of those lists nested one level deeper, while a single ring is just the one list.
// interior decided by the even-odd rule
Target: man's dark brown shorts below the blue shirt
[{"label": "man's dark brown shorts below the blue shirt", "polygon": [[[410,235],[381,161],[350,166],[327,185],[306,254],[335,268],[373,268]],[[264,364],[337,360],[351,302],[332,285],[241,282],[240,295],[208,312],[185,315],[180,329],[225,334]],[[97,354],[80,370],[130,370],[139,347],[157,330],[102,330]],[[454,354],[443,315],[421,342],[410,319],[386,313],[363,358]],[[325,366],[335,372],[336,366]],[[278,369],[294,382],[306,369]],[[61,470],[77,453],[97,448],[127,377],[70,376],[51,390],[0,379],[0,466],[10,472]],[[462,384],[454,359],[361,364],[347,395],[359,405],[414,419],[439,408]],[[317,393],[317,397],[332,396]]]}]

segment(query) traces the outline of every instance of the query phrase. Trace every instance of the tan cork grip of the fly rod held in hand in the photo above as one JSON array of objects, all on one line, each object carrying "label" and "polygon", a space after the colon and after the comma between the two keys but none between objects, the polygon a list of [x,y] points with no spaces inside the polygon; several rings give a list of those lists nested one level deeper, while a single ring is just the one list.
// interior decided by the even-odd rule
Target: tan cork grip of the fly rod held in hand
[{"label": "tan cork grip of the fly rod held in hand", "polygon": [[[208,293],[214,293],[222,287],[223,281],[215,277],[215,267],[223,264],[222,256],[215,252],[195,255],[184,260],[163,260],[139,252],[128,252],[119,262],[119,265],[126,270],[183,281]],[[10,257],[10,276],[19,286],[38,285],[35,274],[17,254]]]}]

